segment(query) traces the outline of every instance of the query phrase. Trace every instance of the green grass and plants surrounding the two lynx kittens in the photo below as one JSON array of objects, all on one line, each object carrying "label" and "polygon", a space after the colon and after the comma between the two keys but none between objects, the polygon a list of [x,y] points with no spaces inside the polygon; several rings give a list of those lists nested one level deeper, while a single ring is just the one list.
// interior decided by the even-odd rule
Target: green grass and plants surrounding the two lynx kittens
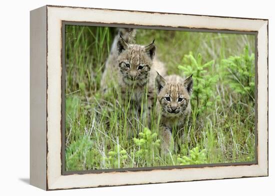
[{"label": "green grass and plants surrounding the two lynx kittens", "polygon": [[[123,103],[115,81],[110,81],[113,88],[107,95],[100,94],[100,79],[114,35],[114,28],[66,25],[66,171],[254,160],[254,101],[248,93],[240,92],[241,85],[232,76],[235,70],[239,73],[247,69],[248,74],[235,76],[249,79],[243,89],[250,92],[249,83],[254,80],[253,35],[137,30],[136,43],[148,44],[155,39],[157,58],[165,63],[168,74],[190,74],[180,66],[197,70],[186,59],[191,55],[197,61],[201,56],[201,65],[212,62],[204,71],[193,73],[194,81],[216,78],[203,83],[210,89],[205,101],[211,104],[203,110],[196,106],[205,92],[198,91],[197,98],[192,97],[192,115],[184,127],[183,140],[173,130],[175,148],[168,155],[161,155],[159,150],[155,108],[149,126],[143,107],[138,113],[127,98]],[[142,105],[146,104],[145,88]],[[198,156],[197,162],[192,156]]]}]

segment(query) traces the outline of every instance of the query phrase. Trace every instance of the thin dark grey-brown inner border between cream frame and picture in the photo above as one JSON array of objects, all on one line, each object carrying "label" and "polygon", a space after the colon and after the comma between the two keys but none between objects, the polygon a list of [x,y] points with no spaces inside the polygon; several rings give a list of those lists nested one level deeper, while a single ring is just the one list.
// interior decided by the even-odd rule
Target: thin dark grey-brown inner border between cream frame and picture
[{"label": "thin dark grey-brown inner border between cream frame and picture", "polygon": [[[250,18],[249,18],[250,19]],[[258,74],[257,74],[257,35],[258,31],[238,31],[228,29],[208,29],[208,28],[189,28],[189,27],[172,27],[172,26],[159,26],[159,25],[137,25],[137,24],[125,24],[125,23],[99,23],[90,21],[67,21],[61,20],[61,175],[73,175],[73,174],[100,174],[111,172],[139,172],[139,171],[152,171],[152,170],[172,170],[172,169],[188,169],[188,168],[207,168],[217,166],[250,166],[257,165],[258,163],[258,137],[257,137],[257,86],[258,86]],[[216,164],[199,164],[199,165],[184,165],[184,166],[159,166],[159,167],[143,167],[143,168],[120,168],[120,169],[100,169],[100,170],[84,170],[84,171],[65,171],[65,25],[78,25],[78,26],[102,26],[102,27],[124,27],[124,28],[141,28],[141,29],[155,29],[155,30],[178,30],[178,31],[190,31],[190,32],[212,32],[212,33],[229,33],[229,34],[249,34],[254,35],[254,66],[255,66],[255,143],[254,153],[255,159],[251,162],[237,162],[237,163],[216,163]]]}]

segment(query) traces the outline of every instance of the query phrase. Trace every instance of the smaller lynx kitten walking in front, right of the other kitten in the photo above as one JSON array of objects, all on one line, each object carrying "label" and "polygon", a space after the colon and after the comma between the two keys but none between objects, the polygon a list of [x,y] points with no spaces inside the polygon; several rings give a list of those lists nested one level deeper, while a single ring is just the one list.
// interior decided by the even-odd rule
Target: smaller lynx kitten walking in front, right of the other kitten
[{"label": "smaller lynx kitten walking in front, right of the other kitten", "polygon": [[192,76],[183,79],[177,75],[155,78],[157,93],[156,111],[160,117],[161,150],[167,152],[173,149],[171,130],[183,128],[191,112]]}]

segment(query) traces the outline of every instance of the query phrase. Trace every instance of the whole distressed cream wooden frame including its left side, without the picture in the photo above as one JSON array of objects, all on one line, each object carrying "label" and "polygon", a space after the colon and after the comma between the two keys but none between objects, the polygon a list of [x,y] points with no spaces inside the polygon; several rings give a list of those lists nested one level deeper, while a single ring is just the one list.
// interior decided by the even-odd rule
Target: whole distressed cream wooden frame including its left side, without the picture
[{"label": "whole distressed cream wooden frame including its left side, without the picture", "polygon": [[[256,35],[256,161],[100,173],[62,172],[62,25],[128,25]],[[268,175],[268,20],[46,5],[30,11],[30,184],[43,190]]]}]

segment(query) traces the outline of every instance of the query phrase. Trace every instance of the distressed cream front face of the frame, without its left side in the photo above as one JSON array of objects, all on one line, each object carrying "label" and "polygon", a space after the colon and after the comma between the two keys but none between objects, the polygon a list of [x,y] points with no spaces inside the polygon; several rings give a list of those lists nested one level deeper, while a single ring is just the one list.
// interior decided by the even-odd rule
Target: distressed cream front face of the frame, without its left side
[{"label": "distressed cream front face of the frame, without its left side", "polygon": [[[46,9],[47,23],[47,68],[45,68],[47,81],[47,149],[42,149],[44,152],[41,155],[46,154],[46,179],[44,176],[40,178],[36,175],[37,181],[41,181],[41,185],[36,186],[46,190],[56,190],[268,175],[268,20],[60,6],[44,6],[40,9]],[[260,95],[257,96],[257,164],[62,176],[60,157],[62,21],[257,31],[257,93]]]}]

